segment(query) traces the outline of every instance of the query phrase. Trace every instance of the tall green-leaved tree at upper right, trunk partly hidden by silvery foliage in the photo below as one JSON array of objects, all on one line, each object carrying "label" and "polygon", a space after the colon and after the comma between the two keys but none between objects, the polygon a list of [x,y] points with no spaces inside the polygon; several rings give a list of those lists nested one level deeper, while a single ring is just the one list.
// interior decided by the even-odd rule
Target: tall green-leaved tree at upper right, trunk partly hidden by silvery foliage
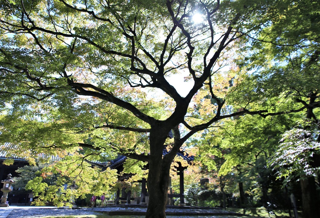
[{"label": "tall green-leaved tree at upper right, trunk partly hidden by silvery foliage", "polygon": [[[260,34],[248,35],[252,39],[249,40],[251,50],[245,52],[244,46],[242,58],[237,63],[240,70],[249,70],[252,74],[244,79],[242,87],[236,87],[240,92],[235,92],[234,100],[244,105],[265,96],[270,103],[275,100],[277,110],[288,110],[292,106],[298,108],[301,103],[307,106],[307,110],[300,118],[317,120],[320,103],[320,31],[316,26],[320,24],[320,4],[314,0],[278,3],[266,13],[268,16],[265,18],[271,14],[272,18],[267,25],[261,26],[263,30]],[[270,86],[273,89],[268,89]],[[252,87],[254,91],[242,95],[240,93],[244,87]],[[314,183],[311,180],[300,180],[303,210],[305,217],[316,218],[320,213],[315,213],[311,208],[317,208],[319,202],[311,197],[316,185],[310,185]]]}]

